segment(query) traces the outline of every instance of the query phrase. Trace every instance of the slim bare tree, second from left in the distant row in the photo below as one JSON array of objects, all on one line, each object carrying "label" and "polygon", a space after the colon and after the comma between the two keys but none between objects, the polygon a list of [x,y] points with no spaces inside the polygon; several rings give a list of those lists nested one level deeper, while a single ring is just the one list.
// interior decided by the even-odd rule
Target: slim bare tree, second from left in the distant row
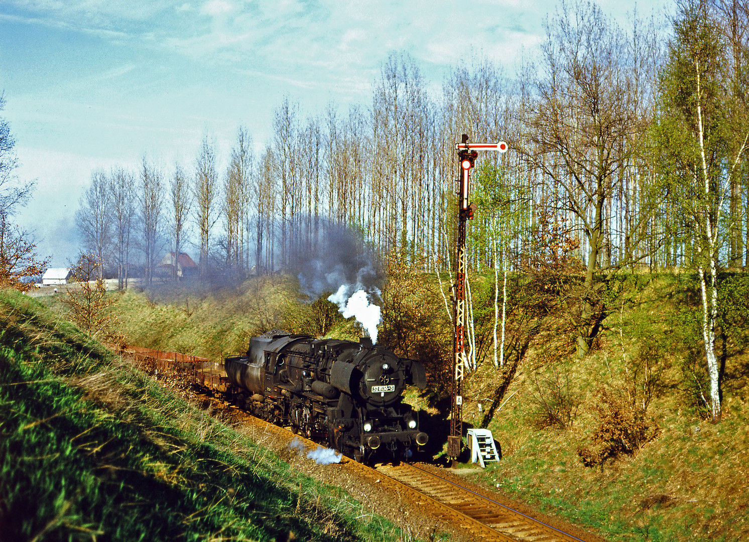
[{"label": "slim bare tree, second from left in the distant row", "polygon": [[130,267],[130,233],[136,201],[133,190],[133,174],[123,168],[113,168],[109,176],[109,191],[112,195],[112,224],[115,229],[114,256],[117,262],[117,278],[120,290],[127,288]]}]

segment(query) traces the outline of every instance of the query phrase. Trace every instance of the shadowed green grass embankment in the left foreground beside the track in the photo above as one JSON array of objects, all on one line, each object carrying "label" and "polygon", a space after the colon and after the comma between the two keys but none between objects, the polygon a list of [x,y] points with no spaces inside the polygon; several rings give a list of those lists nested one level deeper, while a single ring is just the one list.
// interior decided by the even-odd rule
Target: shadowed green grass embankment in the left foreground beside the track
[{"label": "shadowed green grass embankment in the left foreground beside the track", "polygon": [[386,520],[0,290],[0,539],[383,540]]}]

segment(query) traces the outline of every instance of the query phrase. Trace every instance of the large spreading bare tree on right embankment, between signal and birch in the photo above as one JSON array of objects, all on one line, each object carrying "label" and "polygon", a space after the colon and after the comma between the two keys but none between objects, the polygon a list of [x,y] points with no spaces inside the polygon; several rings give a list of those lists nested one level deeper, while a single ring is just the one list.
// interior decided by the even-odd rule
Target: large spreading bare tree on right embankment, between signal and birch
[{"label": "large spreading bare tree on right embankment, between signal and birch", "polygon": [[[611,198],[652,115],[637,103],[636,57],[625,33],[598,6],[562,2],[548,23],[540,65],[524,74],[533,83],[525,88],[524,131],[514,146],[560,190],[559,211],[574,218],[587,248],[577,326],[580,356],[604,317],[601,275],[634,258],[633,243],[616,265],[604,251],[610,243]],[[646,214],[640,220],[646,221]]]}]

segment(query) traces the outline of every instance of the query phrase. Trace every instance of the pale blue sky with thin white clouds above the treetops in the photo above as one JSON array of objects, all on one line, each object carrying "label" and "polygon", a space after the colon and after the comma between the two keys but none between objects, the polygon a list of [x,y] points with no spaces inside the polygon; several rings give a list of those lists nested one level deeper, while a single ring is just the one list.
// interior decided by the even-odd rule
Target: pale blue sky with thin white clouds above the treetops
[{"label": "pale blue sky with thin white clouds above the treetops", "polygon": [[[631,0],[601,0],[627,24]],[[637,7],[662,13],[668,0]],[[228,156],[241,125],[260,149],[284,97],[303,116],[369,106],[392,53],[428,87],[470,56],[514,73],[535,54],[554,0],[0,0],[0,112],[32,201],[16,222],[64,267],[91,173],[192,167],[204,135]]]}]

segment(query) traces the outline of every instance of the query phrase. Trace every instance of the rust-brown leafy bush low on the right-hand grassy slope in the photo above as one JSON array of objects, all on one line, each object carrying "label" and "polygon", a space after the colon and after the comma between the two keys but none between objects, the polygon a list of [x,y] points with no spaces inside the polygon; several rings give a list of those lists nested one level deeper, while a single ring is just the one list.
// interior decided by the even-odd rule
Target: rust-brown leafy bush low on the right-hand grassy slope
[{"label": "rust-brown leafy bush low on the right-hand grassy slope", "polygon": [[601,388],[595,396],[599,402],[591,410],[598,417],[598,429],[590,437],[590,445],[577,448],[585,466],[600,465],[621,454],[633,455],[658,435],[655,421],[625,394]]}]

